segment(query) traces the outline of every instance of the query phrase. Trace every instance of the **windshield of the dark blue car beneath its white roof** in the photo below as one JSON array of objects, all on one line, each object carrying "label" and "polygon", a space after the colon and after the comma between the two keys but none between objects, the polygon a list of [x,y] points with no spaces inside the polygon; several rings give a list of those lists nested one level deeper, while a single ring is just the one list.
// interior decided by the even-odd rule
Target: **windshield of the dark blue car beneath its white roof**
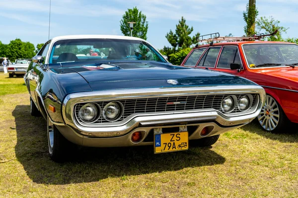
[{"label": "windshield of the dark blue car beneath its white roof", "polygon": [[49,63],[105,60],[166,62],[148,43],[124,39],[70,39],[54,43]]}]

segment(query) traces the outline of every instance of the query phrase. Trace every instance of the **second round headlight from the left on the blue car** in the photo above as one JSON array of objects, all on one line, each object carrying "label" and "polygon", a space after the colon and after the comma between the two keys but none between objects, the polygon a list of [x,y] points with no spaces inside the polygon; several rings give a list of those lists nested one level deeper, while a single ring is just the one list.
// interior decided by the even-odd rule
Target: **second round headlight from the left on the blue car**
[{"label": "second round headlight from the left on the blue car", "polygon": [[122,116],[123,105],[120,102],[109,102],[103,107],[102,115],[107,121],[116,121]]}]

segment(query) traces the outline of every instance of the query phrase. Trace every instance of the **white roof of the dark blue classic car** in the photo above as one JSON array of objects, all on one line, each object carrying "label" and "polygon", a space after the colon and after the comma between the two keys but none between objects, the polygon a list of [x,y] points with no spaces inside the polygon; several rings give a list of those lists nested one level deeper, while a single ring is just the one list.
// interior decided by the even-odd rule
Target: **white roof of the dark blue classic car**
[{"label": "white roof of the dark blue classic car", "polygon": [[58,36],[52,39],[52,42],[67,39],[125,39],[125,40],[138,40],[145,41],[137,37],[119,36],[119,35],[66,35]]}]

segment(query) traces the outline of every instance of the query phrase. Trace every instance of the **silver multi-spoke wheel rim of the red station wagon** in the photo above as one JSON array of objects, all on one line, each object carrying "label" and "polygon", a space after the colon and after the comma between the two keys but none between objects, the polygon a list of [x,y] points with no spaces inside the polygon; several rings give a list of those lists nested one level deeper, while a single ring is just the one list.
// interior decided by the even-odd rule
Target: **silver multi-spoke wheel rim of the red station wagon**
[{"label": "silver multi-spoke wheel rim of the red station wagon", "polygon": [[267,95],[265,105],[258,115],[259,123],[265,130],[272,131],[277,127],[279,115],[277,102],[271,96]]}]

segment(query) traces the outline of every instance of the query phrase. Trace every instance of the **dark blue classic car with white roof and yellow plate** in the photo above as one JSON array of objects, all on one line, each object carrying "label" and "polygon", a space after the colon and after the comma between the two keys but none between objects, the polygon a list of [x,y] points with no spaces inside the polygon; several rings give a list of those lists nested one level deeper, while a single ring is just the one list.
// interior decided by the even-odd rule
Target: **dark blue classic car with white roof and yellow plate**
[{"label": "dark blue classic car with white roof and yellow plate", "polygon": [[154,153],[210,146],[252,121],[265,92],[230,74],[170,64],[148,42],[124,36],[48,41],[24,77],[31,115],[47,120],[49,155],[71,144],[153,145]]}]

